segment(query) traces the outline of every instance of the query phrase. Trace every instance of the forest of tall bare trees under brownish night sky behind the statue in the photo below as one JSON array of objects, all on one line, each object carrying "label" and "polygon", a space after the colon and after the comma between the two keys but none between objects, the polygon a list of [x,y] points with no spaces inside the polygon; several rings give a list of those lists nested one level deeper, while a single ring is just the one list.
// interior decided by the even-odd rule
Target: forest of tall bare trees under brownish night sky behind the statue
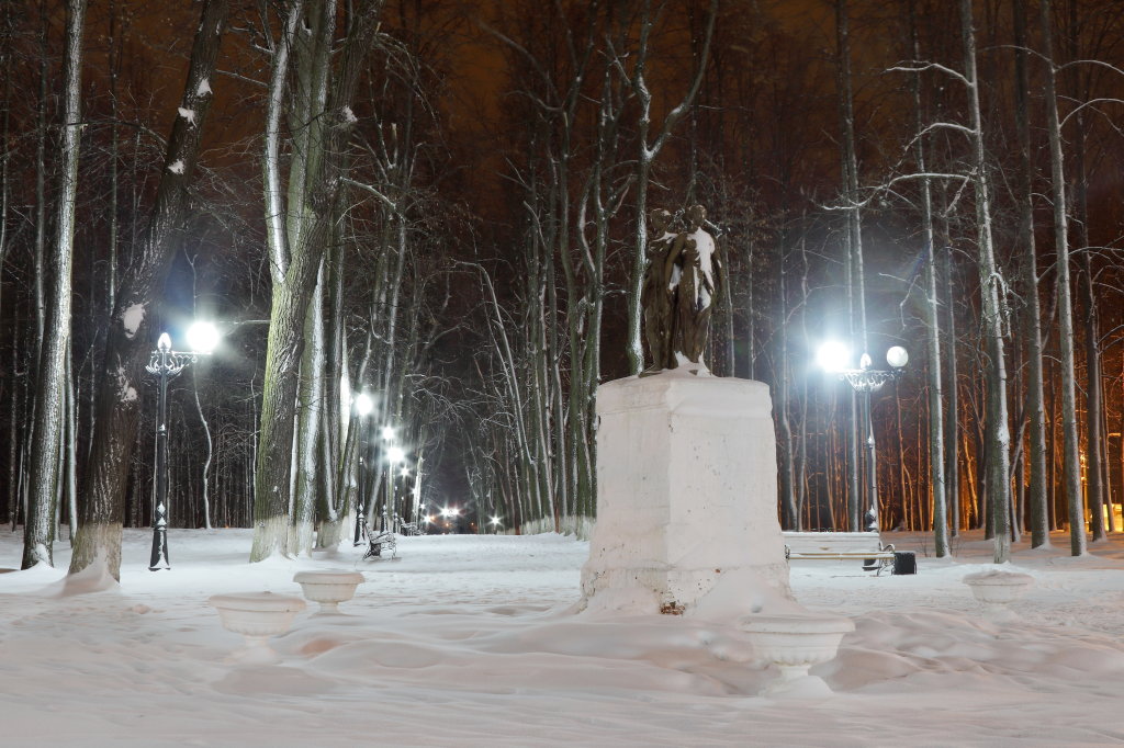
[{"label": "forest of tall bare trees under brownish night sky behind the statue", "polygon": [[[254,527],[254,560],[335,545],[356,507],[587,535],[597,386],[643,366],[646,216],[694,203],[731,279],[706,358],[771,387],[786,528],[858,529],[873,498],[997,562],[1124,530],[1114,0],[0,13],[25,566],[73,539],[72,572],[117,575],[153,519],[144,364],[197,318],[223,344],[170,387],[173,527]],[[909,364],[864,410],[815,367],[828,339]]]}]

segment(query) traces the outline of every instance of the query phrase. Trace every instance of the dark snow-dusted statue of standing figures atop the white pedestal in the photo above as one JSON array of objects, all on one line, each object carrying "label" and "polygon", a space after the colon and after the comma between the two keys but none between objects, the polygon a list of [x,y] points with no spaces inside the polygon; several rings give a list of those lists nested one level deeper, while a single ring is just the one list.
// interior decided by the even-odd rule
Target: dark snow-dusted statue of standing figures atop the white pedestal
[{"label": "dark snow-dusted statue of standing figures atop the white pedestal", "polygon": [[714,237],[703,228],[705,220],[703,206],[687,210],[686,229],[679,231],[670,227],[668,211],[651,215],[641,305],[652,365],[642,376],[679,366],[706,370],[703,353],[726,268]]}]

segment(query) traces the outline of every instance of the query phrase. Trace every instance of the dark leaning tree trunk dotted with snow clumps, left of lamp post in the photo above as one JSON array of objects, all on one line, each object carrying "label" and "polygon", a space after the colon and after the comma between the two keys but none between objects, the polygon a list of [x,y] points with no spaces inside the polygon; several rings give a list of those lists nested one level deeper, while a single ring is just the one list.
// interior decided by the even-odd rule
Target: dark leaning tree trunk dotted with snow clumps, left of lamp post
[{"label": "dark leaning tree trunk dotted with snow clumps, left of lamp post", "polygon": [[144,365],[152,348],[152,312],[163,295],[164,279],[188,215],[188,186],[214,98],[210,79],[215,74],[227,9],[227,0],[207,0],[203,4],[156,199],[140,246],[134,249],[120,276],[106,338],[105,363],[98,376],[97,418],[79,496],[81,522],[74,539],[71,574],[100,557],[110,574],[120,578],[125,491],[140,419]]}]

